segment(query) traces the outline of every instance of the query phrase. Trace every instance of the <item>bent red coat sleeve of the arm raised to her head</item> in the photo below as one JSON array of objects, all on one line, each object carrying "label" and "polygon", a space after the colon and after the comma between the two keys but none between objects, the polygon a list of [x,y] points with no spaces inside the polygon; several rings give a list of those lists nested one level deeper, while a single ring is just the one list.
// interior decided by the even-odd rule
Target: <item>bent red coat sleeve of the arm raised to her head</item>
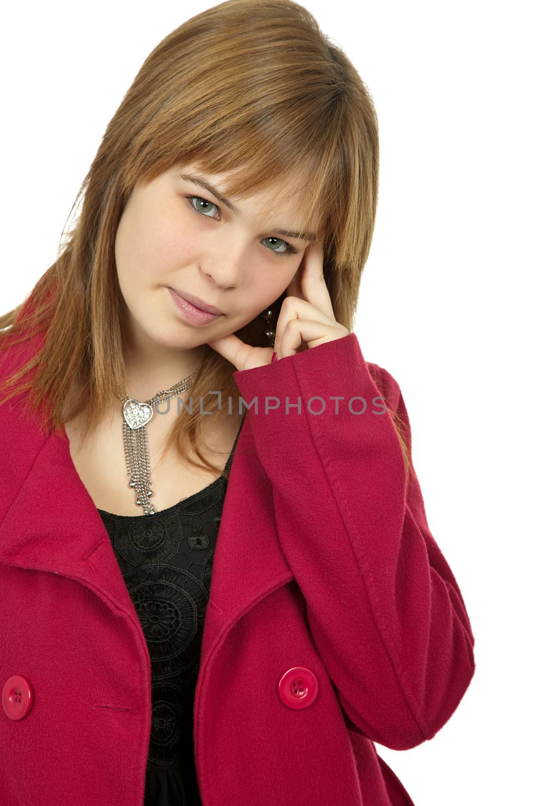
[{"label": "bent red coat sleeve of the arm raised to her head", "polygon": [[392,750],[431,739],[473,677],[474,639],[382,403],[410,451],[399,385],[354,333],[233,377],[258,400],[247,417],[279,541],[346,719]]}]

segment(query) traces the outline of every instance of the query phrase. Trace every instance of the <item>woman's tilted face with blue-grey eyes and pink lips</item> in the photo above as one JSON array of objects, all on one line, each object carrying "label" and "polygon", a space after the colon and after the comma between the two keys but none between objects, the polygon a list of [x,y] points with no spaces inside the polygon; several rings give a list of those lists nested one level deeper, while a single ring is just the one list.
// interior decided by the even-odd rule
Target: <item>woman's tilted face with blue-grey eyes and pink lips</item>
[{"label": "woman's tilted face with blue-grey eyes and pink lips", "polygon": [[[302,229],[296,198],[285,197],[277,218],[262,193],[225,203],[181,177],[200,177],[178,165],[149,185],[134,186],[115,242],[118,281],[126,303],[127,332],[162,347],[199,347],[251,322],[287,288],[308,240],[279,231]],[[202,177],[223,188],[225,175]],[[189,198],[191,197],[191,198]],[[170,289],[198,297],[221,315],[189,322]]]}]

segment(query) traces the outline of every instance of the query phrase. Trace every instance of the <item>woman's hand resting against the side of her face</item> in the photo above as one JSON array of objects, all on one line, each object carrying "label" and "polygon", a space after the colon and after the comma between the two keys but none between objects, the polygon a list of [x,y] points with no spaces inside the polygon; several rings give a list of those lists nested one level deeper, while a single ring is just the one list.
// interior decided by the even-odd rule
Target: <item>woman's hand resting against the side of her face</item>
[{"label": "woman's hand resting against the side of her face", "polygon": [[[304,252],[285,293],[275,334],[274,351],[279,359],[349,335],[349,330],[334,318],[323,276],[323,247],[318,241]],[[272,347],[251,347],[235,334],[208,344],[240,371],[271,363]]]}]

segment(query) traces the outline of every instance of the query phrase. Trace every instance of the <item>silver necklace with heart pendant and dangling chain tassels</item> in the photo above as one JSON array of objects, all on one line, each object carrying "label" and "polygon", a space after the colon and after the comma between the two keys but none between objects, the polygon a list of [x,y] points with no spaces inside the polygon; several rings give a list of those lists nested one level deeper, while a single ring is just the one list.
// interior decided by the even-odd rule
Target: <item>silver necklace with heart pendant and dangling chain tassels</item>
[{"label": "silver necklace with heart pendant and dangling chain tassels", "polygon": [[[124,397],[117,392],[119,399],[123,403],[123,447],[125,448],[126,472],[129,479],[129,487],[134,487],[136,492],[136,503],[143,506],[145,515],[154,515],[155,507],[150,498],[153,495],[151,489],[151,464],[149,462],[149,446],[147,444],[147,423],[153,417],[155,405],[165,403],[176,397],[181,392],[189,389],[194,380],[192,375],[188,375],[184,380],[172,386],[171,389],[163,389],[157,392],[155,397],[143,403],[134,397]],[[188,381],[190,381],[188,383]]]}]

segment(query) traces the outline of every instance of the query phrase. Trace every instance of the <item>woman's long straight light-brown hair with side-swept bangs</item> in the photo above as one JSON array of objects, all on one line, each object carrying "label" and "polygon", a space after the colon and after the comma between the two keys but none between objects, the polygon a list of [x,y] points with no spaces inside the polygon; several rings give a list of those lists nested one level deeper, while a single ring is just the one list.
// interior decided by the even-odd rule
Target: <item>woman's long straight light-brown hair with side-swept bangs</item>
[{"label": "woman's long straight light-brown hair with side-swept bangs", "polygon": [[[303,6],[228,0],[188,19],[147,56],[106,127],[72,206],[83,197],[81,212],[55,263],[25,302],[0,316],[0,353],[32,337],[39,341],[19,372],[5,379],[12,391],[0,405],[29,393],[27,408],[46,430],[61,430],[82,413],[92,430],[118,405],[114,388],[126,383],[116,231],[136,182],[150,182],[177,163],[235,172],[225,195],[257,193],[279,181],[282,193],[306,189],[301,220],[323,244],[337,322],[353,331],[374,230],[378,152],[369,90]],[[266,347],[265,327],[256,317],[237,335]],[[217,426],[227,412],[211,390],[238,402],[235,368],[209,345],[202,350],[191,393],[203,397]],[[66,410],[75,378],[81,395]],[[404,426],[388,411],[408,475]],[[194,410],[177,417],[166,450],[175,448],[217,476],[221,469],[200,453],[202,416]],[[189,448],[199,462],[188,459]]]}]

